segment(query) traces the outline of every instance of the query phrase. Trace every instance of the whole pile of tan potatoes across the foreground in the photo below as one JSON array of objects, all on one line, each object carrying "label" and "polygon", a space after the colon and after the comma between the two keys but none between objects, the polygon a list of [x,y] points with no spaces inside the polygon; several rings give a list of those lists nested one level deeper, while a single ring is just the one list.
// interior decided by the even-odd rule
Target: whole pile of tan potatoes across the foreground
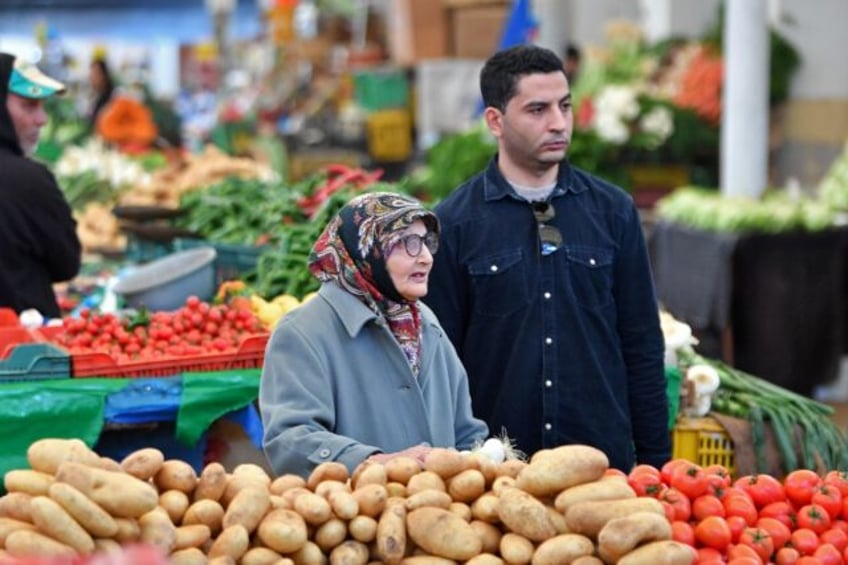
[{"label": "whole pile of tan potatoes across the foreground", "polygon": [[198,474],[155,448],[123,461],[79,440],[43,439],[31,469],[5,476],[4,556],[90,555],[128,544],[176,565],[557,564],[678,565],[660,503],[637,498],[584,445],[495,464],[434,449],[423,466],[398,457],[353,474],[323,463],[308,478],[272,479],[252,464]]}]

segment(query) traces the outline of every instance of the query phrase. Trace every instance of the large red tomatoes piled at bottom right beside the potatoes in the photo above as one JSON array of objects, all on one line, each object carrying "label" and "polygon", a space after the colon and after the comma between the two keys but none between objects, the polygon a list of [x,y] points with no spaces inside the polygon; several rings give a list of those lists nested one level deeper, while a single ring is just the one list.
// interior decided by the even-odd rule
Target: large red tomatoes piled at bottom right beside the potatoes
[{"label": "large red tomatoes piled at bottom right beside the potatoes", "polygon": [[673,459],[661,469],[638,465],[627,481],[662,502],[674,539],[695,547],[700,565],[848,563],[848,473],[733,480],[721,465]]}]

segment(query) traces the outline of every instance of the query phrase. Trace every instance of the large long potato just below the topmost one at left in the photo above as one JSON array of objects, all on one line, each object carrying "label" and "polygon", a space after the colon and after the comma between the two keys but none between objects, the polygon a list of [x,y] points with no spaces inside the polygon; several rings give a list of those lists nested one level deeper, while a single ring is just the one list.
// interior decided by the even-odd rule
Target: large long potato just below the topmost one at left
[{"label": "large long potato just below the topmost one at left", "polygon": [[126,473],[68,461],[59,465],[56,480],[75,487],[115,517],[137,518],[159,505],[155,488]]}]

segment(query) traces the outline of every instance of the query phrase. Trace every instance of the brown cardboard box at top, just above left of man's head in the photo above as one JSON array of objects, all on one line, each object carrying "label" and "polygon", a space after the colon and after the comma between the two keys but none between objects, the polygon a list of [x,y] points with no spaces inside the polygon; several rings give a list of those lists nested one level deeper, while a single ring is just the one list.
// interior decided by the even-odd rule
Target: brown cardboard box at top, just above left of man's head
[{"label": "brown cardboard box at top, just above left of man's head", "polygon": [[509,2],[465,2],[449,8],[448,13],[451,55],[464,59],[487,59],[498,48],[509,16]]}]

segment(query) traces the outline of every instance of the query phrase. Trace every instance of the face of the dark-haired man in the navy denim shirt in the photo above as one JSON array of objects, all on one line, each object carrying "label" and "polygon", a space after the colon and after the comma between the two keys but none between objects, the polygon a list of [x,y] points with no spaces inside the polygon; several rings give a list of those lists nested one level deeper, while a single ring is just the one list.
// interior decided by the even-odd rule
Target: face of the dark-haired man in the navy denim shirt
[{"label": "face of the dark-haired man in the navy denim shirt", "polygon": [[530,74],[518,81],[517,93],[500,112],[491,112],[489,127],[500,151],[528,169],[545,169],[565,158],[574,117],[571,92],[561,72]]}]

